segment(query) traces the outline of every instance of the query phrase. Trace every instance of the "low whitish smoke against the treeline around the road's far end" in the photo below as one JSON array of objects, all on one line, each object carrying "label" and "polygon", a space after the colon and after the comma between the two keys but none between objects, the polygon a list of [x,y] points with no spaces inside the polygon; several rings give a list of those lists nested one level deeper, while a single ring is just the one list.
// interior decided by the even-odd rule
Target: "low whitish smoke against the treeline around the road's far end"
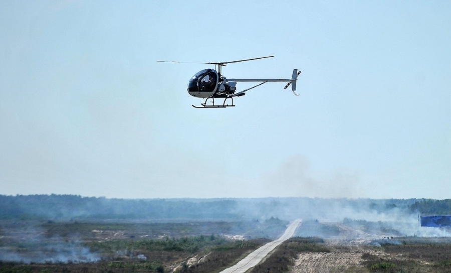
[{"label": "low whitish smoke against the treeline around the road's far end", "polygon": [[[451,236],[446,228],[418,226],[418,214],[403,199],[262,198],[239,199],[243,215],[256,219],[301,218],[298,236],[342,240],[374,240],[393,236]],[[419,231],[419,234],[418,234]]]}]

